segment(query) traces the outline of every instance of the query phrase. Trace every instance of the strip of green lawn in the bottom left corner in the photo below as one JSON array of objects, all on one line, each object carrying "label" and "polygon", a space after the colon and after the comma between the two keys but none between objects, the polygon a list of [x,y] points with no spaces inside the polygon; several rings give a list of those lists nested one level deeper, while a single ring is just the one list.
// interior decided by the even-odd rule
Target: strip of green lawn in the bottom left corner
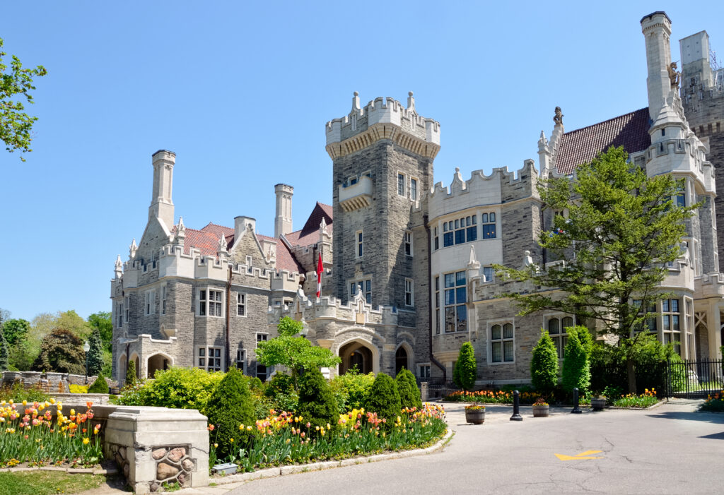
[{"label": "strip of green lawn in the bottom left corner", "polygon": [[0,495],[76,494],[97,488],[104,475],[68,474],[59,471],[0,473]]}]

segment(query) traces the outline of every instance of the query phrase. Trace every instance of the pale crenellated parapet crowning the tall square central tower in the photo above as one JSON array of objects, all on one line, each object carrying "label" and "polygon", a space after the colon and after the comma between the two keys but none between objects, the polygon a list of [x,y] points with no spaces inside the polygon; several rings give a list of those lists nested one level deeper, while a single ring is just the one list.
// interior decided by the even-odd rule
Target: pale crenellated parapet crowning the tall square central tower
[{"label": "pale crenellated parapet crowning the tall square central tower", "polygon": [[440,149],[440,124],[418,115],[415,98],[409,93],[408,106],[394,98],[375,98],[360,107],[359,93],[352,98],[352,110],[340,119],[327,122],[327,152],[339,158],[362,150],[380,139],[427,158]]}]

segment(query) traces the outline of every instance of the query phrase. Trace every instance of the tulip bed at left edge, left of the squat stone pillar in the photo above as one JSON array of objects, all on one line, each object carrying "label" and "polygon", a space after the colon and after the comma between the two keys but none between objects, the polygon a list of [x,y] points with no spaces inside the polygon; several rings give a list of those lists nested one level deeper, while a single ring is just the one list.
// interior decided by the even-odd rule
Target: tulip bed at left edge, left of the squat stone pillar
[{"label": "tulip bed at left edge, left of the squat stone pillar", "polygon": [[0,402],[0,467],[12,468],[24,462],[30,466],[98,464],[103,458],[98,436],[101,425],[91,423],[92,406],[89,402],[84,414],[71,409],[66,417],[62,403],[54,399],[43,403]]}]

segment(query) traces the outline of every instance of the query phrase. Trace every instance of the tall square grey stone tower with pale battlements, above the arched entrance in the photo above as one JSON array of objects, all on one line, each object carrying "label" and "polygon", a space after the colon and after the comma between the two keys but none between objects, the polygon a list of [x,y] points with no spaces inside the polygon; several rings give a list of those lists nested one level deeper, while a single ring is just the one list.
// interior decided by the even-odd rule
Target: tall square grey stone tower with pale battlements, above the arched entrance
[{"label": "tall square grey stone tower with pale battlements, above the arched entrance", "polygon": [[407,108],[392,98],[362,108],[355,92],[350,113],[327,122],[326,130],[333,161],[334,296],[350,301],[361,289],[372,306],[408,309],[405,318],[400,313],[401,325],[426,328],[426,191],[439,123],[418,115],[412,92]]}]

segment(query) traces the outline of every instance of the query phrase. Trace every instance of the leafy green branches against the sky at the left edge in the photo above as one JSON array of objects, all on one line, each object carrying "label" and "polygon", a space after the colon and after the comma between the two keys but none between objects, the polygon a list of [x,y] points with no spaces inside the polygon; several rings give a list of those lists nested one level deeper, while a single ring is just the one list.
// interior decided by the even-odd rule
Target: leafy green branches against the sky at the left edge
[{"label": "leafy green branches against the sky at the left edge", "polygon": [[[22,100],[34,103],[33,95],[30,94],[31,90],[35,90],[33,77],[43,77],[47,71],[42,65],[35,69],[23,69],[20,59],[14,55],[8,68],[3,61],[5,52],[1,51],[2,46],[3,40],[0,38],[0,140],[7,145],[5,149],[9,152],[30,152],[30,132],[38,117],[31,117],[24,112]],[[25,161],[22,155],[20,160]]]}]

